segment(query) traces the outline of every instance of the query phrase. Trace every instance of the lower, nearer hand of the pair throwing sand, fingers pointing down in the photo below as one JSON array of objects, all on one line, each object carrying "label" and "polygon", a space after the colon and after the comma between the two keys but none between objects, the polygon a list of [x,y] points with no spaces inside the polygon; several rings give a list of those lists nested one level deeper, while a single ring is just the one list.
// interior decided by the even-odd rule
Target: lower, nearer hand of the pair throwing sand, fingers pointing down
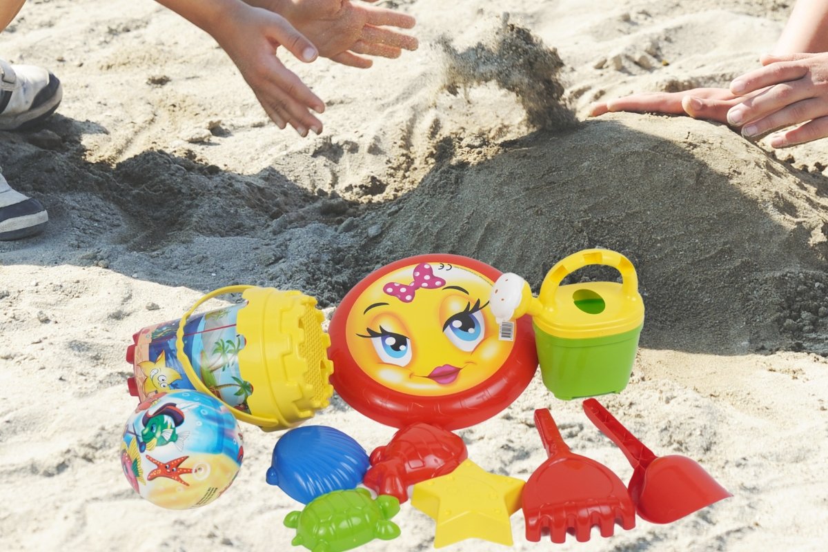
[{"label": "lower, nearer hand of the pair throwing sand, fingers pointing down", "polygon": [[316,59],[313,44],[276,13],[238,2],[230,21],[207,31],[219,42],[253,89],[267,115],[280,128],[290,124],[301,136],[322,132],[322,122],[310,113],[325,111],[325,103],[277,58],[284,46],[302,61]]}]

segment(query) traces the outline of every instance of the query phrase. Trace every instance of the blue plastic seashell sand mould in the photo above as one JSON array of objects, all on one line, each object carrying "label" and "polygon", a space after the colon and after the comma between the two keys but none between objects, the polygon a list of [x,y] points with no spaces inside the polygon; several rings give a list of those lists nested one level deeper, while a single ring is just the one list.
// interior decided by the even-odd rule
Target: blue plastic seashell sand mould
[{"label": "blue plastic seashell sand mould", "polygon": [[266,480],[307,504],[328,492],[353,489],[368,465],[368,454],[354,439],[332,427],[310,425],[279,438]]}]

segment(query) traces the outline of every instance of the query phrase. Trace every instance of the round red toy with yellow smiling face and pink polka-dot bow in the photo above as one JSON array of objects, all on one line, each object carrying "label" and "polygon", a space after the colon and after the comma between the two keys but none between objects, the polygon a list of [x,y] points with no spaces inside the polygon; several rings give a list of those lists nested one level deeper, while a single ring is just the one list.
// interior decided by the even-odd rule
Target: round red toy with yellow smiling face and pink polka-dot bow
[{"label": "round red toy with yellow smiling face and pink polka-dot bow", "polygon": [[532,380],[530,320],[499,327],[485,309],[500,272],[456,255],[409,257],[373,271],[330,323],[336,391],[373,420],[446,430],[477,424]]}]

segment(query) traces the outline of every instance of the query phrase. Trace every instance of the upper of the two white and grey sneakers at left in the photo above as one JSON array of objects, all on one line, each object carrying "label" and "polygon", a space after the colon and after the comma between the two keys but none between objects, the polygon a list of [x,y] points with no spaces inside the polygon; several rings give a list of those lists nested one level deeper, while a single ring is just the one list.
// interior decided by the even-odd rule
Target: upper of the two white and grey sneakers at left
[{"label": "upper of the two white and grey sneakers at left", "polygon": [[55,113],[61,98],[63,87],[54,74],[0,60],[0,130],[36,127]]}]

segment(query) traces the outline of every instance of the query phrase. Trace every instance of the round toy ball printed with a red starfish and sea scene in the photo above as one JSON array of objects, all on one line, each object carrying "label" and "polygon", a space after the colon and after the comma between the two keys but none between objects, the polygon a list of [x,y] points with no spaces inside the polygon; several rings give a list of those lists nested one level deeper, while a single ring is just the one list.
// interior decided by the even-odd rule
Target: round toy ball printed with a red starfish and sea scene
[{"label": "round toy ball printed with a red starfish and sea scene", "polygon": [[123,474],[158,506],[183,510],[227,490],[243,458],[230,411],[198,391],[156,393],[129,417],[121,440]]}]

